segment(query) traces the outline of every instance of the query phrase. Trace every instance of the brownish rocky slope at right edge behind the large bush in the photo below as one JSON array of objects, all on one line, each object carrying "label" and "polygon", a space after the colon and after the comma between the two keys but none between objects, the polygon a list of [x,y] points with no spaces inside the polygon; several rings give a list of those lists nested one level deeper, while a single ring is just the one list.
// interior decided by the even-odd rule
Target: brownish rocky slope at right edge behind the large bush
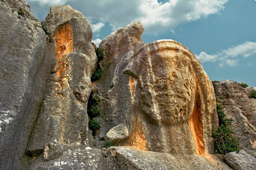
[{"label": "brownish rocky slope at right edge behind the large bush", "polygon": [[212,82],[217,103],[225,106],[227,118],[233,119],[231,129],[238,139],[239,147],[256,156],[256,99],[249,98],[255,87],[241,87],[235,81]]}]

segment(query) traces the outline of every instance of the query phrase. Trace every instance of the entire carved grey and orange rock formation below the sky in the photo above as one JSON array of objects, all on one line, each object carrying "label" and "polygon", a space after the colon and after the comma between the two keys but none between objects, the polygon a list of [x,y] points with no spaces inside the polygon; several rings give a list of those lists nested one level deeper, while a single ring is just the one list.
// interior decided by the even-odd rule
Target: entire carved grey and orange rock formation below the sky
[{"label": "entire carved grey and orange rock formation below the sky", "polygon": [[[41,27],[27,2],[0,3],[0,169],[229,169],[213,155],[214,90],[217,103],[239,107],[229,117],[254,154],[255,99],[245,95],[252,87],[211,83],[177,41],[144,44],[141,22],[119,28],[102,40],[102,77],[91,82],[97,57],[80,12],[52,6]],[[91,91],[101,110],[94,136]],[[106,141],[115,147],[101,149]]]}]

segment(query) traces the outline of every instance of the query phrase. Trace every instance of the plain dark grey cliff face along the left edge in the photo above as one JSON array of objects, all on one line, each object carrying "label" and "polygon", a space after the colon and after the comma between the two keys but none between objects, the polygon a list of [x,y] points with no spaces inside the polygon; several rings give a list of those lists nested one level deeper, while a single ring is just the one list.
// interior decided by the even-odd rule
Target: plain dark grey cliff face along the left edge
[{"label": "plain dark grey cliff face along the left edge", "polygon": [[18,169],[54,63],[27,2],[1,0],[0,11],[0,169]]}]

